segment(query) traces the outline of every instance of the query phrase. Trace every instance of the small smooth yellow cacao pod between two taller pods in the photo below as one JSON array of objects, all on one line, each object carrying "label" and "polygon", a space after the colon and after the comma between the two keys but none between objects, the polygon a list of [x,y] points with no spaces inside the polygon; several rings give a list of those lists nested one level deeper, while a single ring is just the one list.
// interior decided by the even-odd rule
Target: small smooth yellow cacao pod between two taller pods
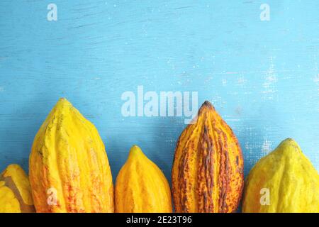
[{"label": "small smooth yellow cacao pod between two taller pods", "polygon": [[118,213],[172,212],[167,179],[136,145],[118,173],[115,194]]}]

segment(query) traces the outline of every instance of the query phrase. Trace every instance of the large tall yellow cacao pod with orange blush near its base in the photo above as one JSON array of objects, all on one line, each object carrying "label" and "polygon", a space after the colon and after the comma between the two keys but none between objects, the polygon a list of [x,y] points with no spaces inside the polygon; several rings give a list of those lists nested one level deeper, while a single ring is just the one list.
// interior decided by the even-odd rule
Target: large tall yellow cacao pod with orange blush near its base
[{"label": "large tall yellow cacao pod with orange blush near its base", "polygon": [[37,212],[113,212],[103,142],[67,99],[57,102],[35,135],[29,165]]}]

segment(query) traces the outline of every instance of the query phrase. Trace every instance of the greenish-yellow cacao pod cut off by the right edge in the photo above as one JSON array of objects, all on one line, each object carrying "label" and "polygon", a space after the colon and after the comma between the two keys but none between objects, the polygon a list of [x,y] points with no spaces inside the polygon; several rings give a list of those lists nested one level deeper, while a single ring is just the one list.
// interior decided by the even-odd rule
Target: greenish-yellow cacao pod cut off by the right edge
[{"label": "greenish-yellow cacao pod cut off by the right edge", "polygon": [[293,139],[262,157],[247,177],[242,211],[319,212],[319,175]]}]

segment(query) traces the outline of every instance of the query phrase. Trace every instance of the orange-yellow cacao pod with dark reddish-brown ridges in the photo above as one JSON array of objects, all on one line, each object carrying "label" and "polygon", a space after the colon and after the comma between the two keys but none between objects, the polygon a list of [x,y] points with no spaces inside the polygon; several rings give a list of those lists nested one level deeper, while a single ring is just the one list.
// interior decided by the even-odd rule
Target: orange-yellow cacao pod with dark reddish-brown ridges
[{"label": "orange-yellow cacao pod with dark reddish-brown ridges", "polygon": [[243,167],[235,134],[205,101],[177,142],[172,167],[176,211],[236,211],[244,185]]}]

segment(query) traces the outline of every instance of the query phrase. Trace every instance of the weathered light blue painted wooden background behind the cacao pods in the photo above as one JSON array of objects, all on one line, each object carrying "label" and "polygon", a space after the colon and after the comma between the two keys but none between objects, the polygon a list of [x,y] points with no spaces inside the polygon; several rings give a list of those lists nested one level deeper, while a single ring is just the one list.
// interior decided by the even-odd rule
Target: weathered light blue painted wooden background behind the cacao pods
[{"label": "weathered light blue painted wooden background behind the cacao pods", "polygon": [[318,65],[315,0],[1,0],[0,169],[28,170],[35,133],[64,96],[98,128],[113,179],[137,144],[170,180],[184,118],[123,117],[121,94],[142,85],[211,101],[240,140],[245,175],[288,137],[319,170]]}]

